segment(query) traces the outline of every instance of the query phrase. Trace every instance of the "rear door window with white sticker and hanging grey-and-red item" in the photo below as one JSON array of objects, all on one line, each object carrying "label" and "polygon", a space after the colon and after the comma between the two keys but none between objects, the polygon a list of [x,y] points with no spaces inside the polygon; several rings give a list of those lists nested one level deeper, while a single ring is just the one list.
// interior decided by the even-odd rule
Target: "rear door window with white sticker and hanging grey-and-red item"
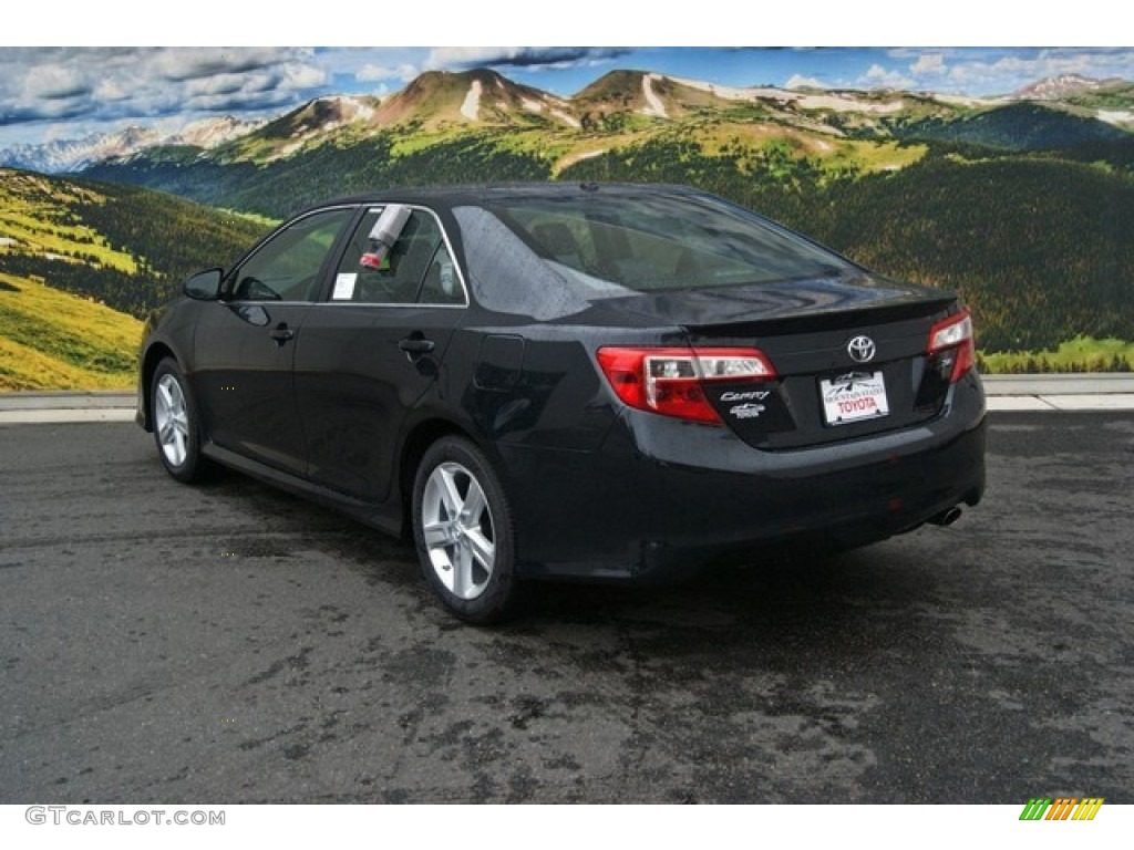
[{"label": "rear door window with white sticker and hanging grey-and-red item", "polygon": [[[404,211],[400,216],[398,210]],[[367,211],[336,270],[331,300],[464,304],[464,290],[437,218],[407,207]]]}]

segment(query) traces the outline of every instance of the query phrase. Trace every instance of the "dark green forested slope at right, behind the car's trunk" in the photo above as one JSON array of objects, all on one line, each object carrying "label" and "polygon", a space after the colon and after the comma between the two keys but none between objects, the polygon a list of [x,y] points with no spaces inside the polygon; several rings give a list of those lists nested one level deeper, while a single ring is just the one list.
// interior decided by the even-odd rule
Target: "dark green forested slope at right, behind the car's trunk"
[{"label": "dark green forested slope at right, behind the car's trunk", "polygon": [[829,193],[822,238],[960,290],[985,351],[1134,337],[1134,180],[1046,159],[934,158]]}]

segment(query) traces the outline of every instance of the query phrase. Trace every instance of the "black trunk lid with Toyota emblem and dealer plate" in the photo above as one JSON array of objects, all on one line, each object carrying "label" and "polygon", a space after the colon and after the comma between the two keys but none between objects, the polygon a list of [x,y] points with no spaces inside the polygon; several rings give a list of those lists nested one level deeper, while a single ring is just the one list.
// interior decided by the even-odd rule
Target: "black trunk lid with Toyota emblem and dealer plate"
[{"label": "black trunk lid with Toyota emblem and dealer plate", "polygon": [[862,275],[618,300],[606,306],[678,325],[693,347],[767,355],[772,381],[704,384],[725,424],[755,448],[904,428],[940,415],[945,402],[948,379],[926,349],[934,322],[955,309],[953,292]]}]

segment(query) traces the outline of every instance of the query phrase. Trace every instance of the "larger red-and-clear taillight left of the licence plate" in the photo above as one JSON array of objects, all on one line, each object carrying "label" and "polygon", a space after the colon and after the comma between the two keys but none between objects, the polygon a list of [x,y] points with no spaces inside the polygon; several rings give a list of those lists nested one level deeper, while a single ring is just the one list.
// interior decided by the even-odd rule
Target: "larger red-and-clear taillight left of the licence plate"
[{"label": "larger red-and-clear taillight left of the licence plate", "polygon": [[600,348],[599,365],[618,398],[638,410],[720,423],[705,382],[770,381],[776,371],[754,348]]}]

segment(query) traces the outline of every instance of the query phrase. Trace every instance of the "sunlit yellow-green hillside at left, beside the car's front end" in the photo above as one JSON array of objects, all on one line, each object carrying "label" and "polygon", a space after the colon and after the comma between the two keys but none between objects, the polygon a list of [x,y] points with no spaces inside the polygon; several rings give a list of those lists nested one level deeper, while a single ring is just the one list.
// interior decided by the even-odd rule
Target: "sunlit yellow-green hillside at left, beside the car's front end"
[{"label": "sunlit yellow-green hillside at left, beside the car's front end", "polygon": [[129,388],[141,318],[265,227],[149,189],[0,169],[0,391]]}]

